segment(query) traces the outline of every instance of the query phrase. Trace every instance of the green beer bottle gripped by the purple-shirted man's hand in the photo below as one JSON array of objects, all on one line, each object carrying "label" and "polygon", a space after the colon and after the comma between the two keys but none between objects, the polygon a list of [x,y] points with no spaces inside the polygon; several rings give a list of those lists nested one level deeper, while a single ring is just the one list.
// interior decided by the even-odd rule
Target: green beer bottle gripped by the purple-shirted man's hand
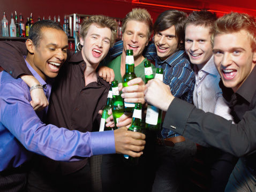
[{"label": "green beer bottle gripped by the purple-shirted man's hand", "polygon": [[[136,103],[135,108],[132,114],[132,124],[128,130],[131,132],[140,132],[141,133],[141,111],[142,104]],[[137,165],[139,162],[138,157],[131,157],[129,155],[124,155],[124,162],[128,165]]]}]

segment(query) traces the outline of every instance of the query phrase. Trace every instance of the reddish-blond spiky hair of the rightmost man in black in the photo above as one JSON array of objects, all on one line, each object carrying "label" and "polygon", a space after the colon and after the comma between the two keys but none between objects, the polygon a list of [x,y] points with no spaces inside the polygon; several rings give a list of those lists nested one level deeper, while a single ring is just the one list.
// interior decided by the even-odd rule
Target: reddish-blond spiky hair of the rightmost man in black
[{"label": "reddish-blond spiky hair of the rightmost man in black", "polygon": [[212,32],[212,44],[214,37],[219,34],[236,33],[240,30],[247,32],[251,41],[252,51],[256,50],[256,24],[255,18],[246,13],[231,12],[217,19]]}]

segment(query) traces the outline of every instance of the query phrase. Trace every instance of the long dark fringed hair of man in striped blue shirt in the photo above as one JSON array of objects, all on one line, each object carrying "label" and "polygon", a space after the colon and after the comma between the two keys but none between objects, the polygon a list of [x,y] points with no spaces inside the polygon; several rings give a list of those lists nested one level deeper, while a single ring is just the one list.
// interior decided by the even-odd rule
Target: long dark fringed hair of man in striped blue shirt
[{"label": "long dark fringed hair of man in striped blue shirt", "polygon": [[156,19],[153,29],[154,35],[157,32],[162,32],[163,30],[169,29],[171,26],[175,26],[175,36],[178,41],[178,50],[184,50],[185,41],[185,20],[186,13],[178,10],[167,10],[162,12]]}]

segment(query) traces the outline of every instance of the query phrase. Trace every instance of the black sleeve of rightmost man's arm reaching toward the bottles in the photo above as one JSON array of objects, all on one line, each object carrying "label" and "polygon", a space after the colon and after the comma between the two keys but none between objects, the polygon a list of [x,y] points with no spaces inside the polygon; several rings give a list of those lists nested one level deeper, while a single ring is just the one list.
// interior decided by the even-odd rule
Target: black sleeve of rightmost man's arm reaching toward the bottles
[{"label": "black sleeve of rightmost man's arm reaching toward the bottles", "polygon": [[247,111],[238,124],[232,124],[232,120],[205,113],[175,98],[165,115],[163,127],[200,145],[216,147],[237,157],[256,152],[256,108]]}]

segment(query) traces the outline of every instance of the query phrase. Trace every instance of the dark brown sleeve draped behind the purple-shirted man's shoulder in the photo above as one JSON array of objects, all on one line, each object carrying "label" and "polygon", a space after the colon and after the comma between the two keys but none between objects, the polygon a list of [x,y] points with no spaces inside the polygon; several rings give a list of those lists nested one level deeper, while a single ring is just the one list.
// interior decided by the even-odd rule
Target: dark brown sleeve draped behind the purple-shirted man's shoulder
[{"label": "dark brown sleeve draped behind the purple-shirted man's shoulder", "polygon": [[27,55],[26,44],[15,41],[0,42],[0,66],[13,78],[21,74],[32,75],[28,70],[24,56]]}]

